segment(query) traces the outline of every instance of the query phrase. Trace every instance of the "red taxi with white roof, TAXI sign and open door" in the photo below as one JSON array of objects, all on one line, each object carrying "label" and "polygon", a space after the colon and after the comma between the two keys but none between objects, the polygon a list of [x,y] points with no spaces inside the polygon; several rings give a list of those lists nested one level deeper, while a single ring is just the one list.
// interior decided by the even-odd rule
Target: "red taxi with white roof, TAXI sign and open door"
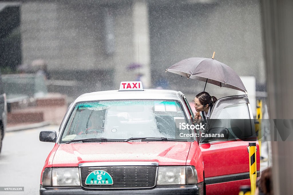
[{"label": "red taxi with white roof, TAXI sign and open door", "polygon": [[[40,141],[55,143],[40,194],[238,194],[250,184],[248,141],[235,125],[248,119],[245,135],[253,135],[247,95],[215,102],[209,121],[225,119],[216,128],[200,128],[192,116],[183,93],[141,82],[79,96],[58,136],[40,132]],[[258,152],[258,175],[259,162]]]}]

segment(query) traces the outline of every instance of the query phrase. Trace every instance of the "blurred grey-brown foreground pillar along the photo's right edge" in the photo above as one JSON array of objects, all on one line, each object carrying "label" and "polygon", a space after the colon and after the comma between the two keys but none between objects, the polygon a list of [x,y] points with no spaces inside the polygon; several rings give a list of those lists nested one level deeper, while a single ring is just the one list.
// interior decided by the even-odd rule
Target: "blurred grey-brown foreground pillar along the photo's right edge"
[{"label": "blurred grey-brown foreground pillar along the photo's right edge", "polygon": [[[270,119],[293,119],[293,1],[262,0]],[[287,127],[289,128],[289,127]],[[293,124],[289,128],[292,134]],[[276,132],[275,132],[276,133]],[[271,136],[272,139],[274,136]],[[292,194],[292,141],[272,140],[274,194]]]}]

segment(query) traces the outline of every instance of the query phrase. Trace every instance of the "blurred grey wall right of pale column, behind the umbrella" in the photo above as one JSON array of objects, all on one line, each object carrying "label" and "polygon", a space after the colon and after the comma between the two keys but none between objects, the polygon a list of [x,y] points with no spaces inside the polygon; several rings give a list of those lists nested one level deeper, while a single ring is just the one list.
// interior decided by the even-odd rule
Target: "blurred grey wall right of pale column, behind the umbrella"
[{"label": "blurred grey wall right of pale column, behind the umbrella", "polygon": [[[199,3],[200,2],[200,3]],[[189,57],[215,59],[240,76],[254,76],[265,85],[259,1],[180,1],[150,3],[152,78],[166,78],[173,89],[199,93],[204,83],[165,70]],[[207,84],[218,97],[236,94]]]}]

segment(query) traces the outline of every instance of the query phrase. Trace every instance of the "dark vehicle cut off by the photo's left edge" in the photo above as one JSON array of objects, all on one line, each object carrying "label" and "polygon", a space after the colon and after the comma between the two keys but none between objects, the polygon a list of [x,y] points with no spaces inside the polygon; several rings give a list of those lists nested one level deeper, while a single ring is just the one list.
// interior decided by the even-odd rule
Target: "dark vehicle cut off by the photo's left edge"
[{"label": "dark vehicle cut off by the photo's left edge", "polygon": [[4,90],[3,90],[1,72],[0,72],[0,152],[2,148],[2,141],[4,138],[6,122],[7,122],[6,94],[4,93]]}]

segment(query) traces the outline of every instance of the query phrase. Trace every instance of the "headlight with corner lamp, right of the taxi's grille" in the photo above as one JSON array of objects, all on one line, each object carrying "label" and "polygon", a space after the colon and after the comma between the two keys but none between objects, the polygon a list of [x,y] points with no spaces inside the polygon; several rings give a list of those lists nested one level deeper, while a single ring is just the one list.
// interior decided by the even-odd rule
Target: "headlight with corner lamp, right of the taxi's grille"
[{"label": "headlight with corner lamp, right of the taxi's grille", "polygon": [[197,172],[194,166],[159,167],[157,185],[196,184]]}]

